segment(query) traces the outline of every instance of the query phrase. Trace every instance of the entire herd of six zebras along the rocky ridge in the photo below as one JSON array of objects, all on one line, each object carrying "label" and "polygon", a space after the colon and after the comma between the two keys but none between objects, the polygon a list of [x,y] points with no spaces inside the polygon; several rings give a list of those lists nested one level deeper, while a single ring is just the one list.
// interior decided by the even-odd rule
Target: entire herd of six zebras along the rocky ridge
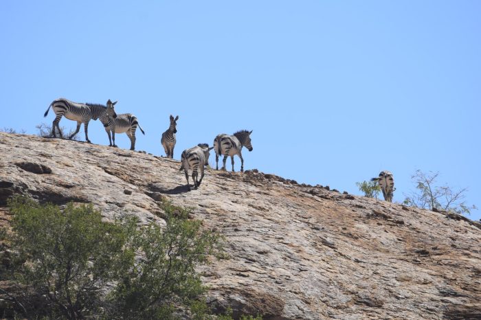
[{"label": "entire herd of six zebras along the rocky ridge", "polygon": [[[71,102],[67,99],[60,98],[54,100],[47,111],[45,111],[44,117],[52,108],[56,115],[54,122],[52,123],[52,137],[56,137],[56,128],[58,134],[62,137],[62,131],[58,123],[63,116],[67,119],[77,122],[77,128],[74,134],[70,135],[69,139],[74,137],[80,130],[80,126],[84,124],[85,128],[85,140],[89,143],[89,122],[91,119],[100,119],[100,122],[104,125],[105,131],[109,137],[109,146],[117,147],[115,145],[115,133],[126,133],[131,140],[131,150],[135,150],[135,130],[137,126],[145,135],[144,130],[137,121],[137,117],[131,113],[123,113],[118,115],[115,113],[114,106],[117,103],[107,101],[107,106],[102,104],[88,104]],[[166,152],[166,157],[172,159],[174,157],[174,148],[177,140],[175,139],[175,133],[177,133],[177,120],[179,116],[174,117],[170,115],[170,125],[168,129],[162,133],[161,144]],[[227,157],[231,158],[232,172],[234,172],[234,155],[238,155],[240,158],[240,172],[244,171],[244,159],[242,157],[242,148],[252,151],[251,135],[252,130],[240,130],[234,135],[226,135],[225,133],[217,135],[214,139],[214,146],[209,147],[208,144],[198,144],[193,148],[183,150],[181,155],[181,168],[179,171],[184,171],[186,174],[187,187],[190,190],[188,170],[192,170],[192,181],[194,188],[197,189],[201,185],[204,176],[204,166],[208,165],[210,150],[214,149],[216,152],[216,170],[219,170],[219,155],[223,155],[221,170],[225,169],[225,162]],[[198,172],[201,172],[201,179],[198,179]],[[382,171],[377,178],[372,178],[371,181],[377,181],[383,192],[384,200],[392,202],[392,196],[394,192],[394,178],[389,171]]]}]

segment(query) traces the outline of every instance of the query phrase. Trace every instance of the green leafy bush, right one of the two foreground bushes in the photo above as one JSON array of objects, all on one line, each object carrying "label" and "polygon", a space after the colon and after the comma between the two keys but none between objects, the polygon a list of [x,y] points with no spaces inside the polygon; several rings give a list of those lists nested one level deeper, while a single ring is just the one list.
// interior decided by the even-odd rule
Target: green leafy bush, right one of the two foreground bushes
[{"label": "green leafy bush, right one of the two foreground bushes", "polygon": [[164,203],[164,210],[164,229],[150,224],[133,238],[133,248],[142,257],[124,274],[113,294],[114,317],[170,319],[178,306],[207,310],[199,300],[207,288],[195,268],[208,262],[210,254],[221,258],[221,237],[201,231],[201,221],[188,220],[189,209]]}]

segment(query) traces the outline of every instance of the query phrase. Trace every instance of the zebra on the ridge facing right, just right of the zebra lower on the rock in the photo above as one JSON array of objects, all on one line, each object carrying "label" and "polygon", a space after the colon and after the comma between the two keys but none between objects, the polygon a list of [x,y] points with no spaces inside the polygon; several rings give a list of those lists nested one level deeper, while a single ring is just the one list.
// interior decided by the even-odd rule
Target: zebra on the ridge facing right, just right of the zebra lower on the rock
[{"label": "zebra on the ridge facing right, just right of the zebra lower on the rock", "polygon": [[240,130],[234,135],[218,135],[214,139],[214,150],[216,151],[216,170],[219,170],[219,155],[224,155],[223,165],[221,170],[225,170],[225,161],[230,156],[232,160],[232,172],[234,172],[234,155],[240,158],[240,172],[244,171],[244,159],[242,157],[242,147],[245,146],[247,150],[252,151],[251,135],[252,130]]}]

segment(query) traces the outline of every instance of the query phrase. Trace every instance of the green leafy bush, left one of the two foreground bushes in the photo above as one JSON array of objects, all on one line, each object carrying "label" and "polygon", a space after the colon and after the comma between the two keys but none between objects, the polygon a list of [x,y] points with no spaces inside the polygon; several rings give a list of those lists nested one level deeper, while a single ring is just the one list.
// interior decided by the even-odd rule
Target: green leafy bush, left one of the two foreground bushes
[{"label": "green leafy bush, left one of the two foreground bushes", "polygon": [[92,205],[70,203],[61,211],[16,197],[10,207],[17,253],[12,278],[33,293],[36,310],[31,312],[48,310],[66,319],[95,312],[105,284],[117,279],[131,258],[130,251],[122,250],[126,229],[102,222]]}]

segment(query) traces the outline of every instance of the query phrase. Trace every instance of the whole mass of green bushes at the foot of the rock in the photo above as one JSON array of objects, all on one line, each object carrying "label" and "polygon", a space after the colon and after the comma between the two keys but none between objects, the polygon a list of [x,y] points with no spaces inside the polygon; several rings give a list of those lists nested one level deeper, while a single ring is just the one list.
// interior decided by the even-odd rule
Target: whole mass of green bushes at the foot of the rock
[{"label": "whole mass of green bushes at the foot of the rock", "polygon": [[[221,237],[167,203],[166,227],[104,222],[92,205],[10,203],[16,253],[7,293],[27,318],[205,319],[206,288],[195,268],[221,254]],[[180,214],[179,214],[180,213]]]}]

